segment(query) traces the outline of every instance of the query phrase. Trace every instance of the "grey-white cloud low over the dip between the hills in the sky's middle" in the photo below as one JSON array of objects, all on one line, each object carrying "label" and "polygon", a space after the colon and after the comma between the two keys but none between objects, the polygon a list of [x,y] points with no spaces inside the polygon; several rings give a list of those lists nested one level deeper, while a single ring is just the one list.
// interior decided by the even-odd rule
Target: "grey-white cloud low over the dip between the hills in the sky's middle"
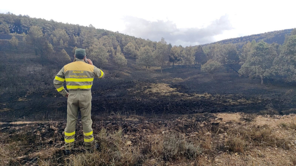
[{"label": "grey-white cloud low over the dip between the hills in the sky's middle", "polygon": [[137,17],[125,17],[125,29],[128,35],[159,41],[162,37],[173,45],[197,45],[215,41],[214,36],[223,34],[226,30],[233,29],[228,16],[221,16],[204,28],[177,28],[172,21],[147,21]]}]

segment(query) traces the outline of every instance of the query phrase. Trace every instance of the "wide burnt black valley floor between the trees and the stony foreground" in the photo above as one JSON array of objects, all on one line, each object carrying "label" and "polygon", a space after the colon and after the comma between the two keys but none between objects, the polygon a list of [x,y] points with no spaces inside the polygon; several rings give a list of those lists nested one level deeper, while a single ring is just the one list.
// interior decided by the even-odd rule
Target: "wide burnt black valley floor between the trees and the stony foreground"
[{"label": "wide burnt black valley floor between the trees and the stony foreground", "polygon": [[[150,77],[150,76],[149,76]],[[181,80],[174,81],[174,78]],[[133,80],[133,79],[130,79]],[[173,92],[149,92],[153,84],[166,83]],[[285,93],[293,86],[239,78],[234,74],[210,76],[189,73],[154,74],[149,79],[95,81],[92,88],[92,115],[184,115],[192,113],[246,112],[266,109],[295,110],[295,95]],[[294,91],[293,91],[294,92]],[[202,95],[208,93],[210,95]],[[199,95],[196,95],[199,94]],[[286,112],[285,112],[286,111]],[[2,122],[59,120],[67,115],[67,99],[54,88],[47,91],[3,92],[0,103]]]}]

